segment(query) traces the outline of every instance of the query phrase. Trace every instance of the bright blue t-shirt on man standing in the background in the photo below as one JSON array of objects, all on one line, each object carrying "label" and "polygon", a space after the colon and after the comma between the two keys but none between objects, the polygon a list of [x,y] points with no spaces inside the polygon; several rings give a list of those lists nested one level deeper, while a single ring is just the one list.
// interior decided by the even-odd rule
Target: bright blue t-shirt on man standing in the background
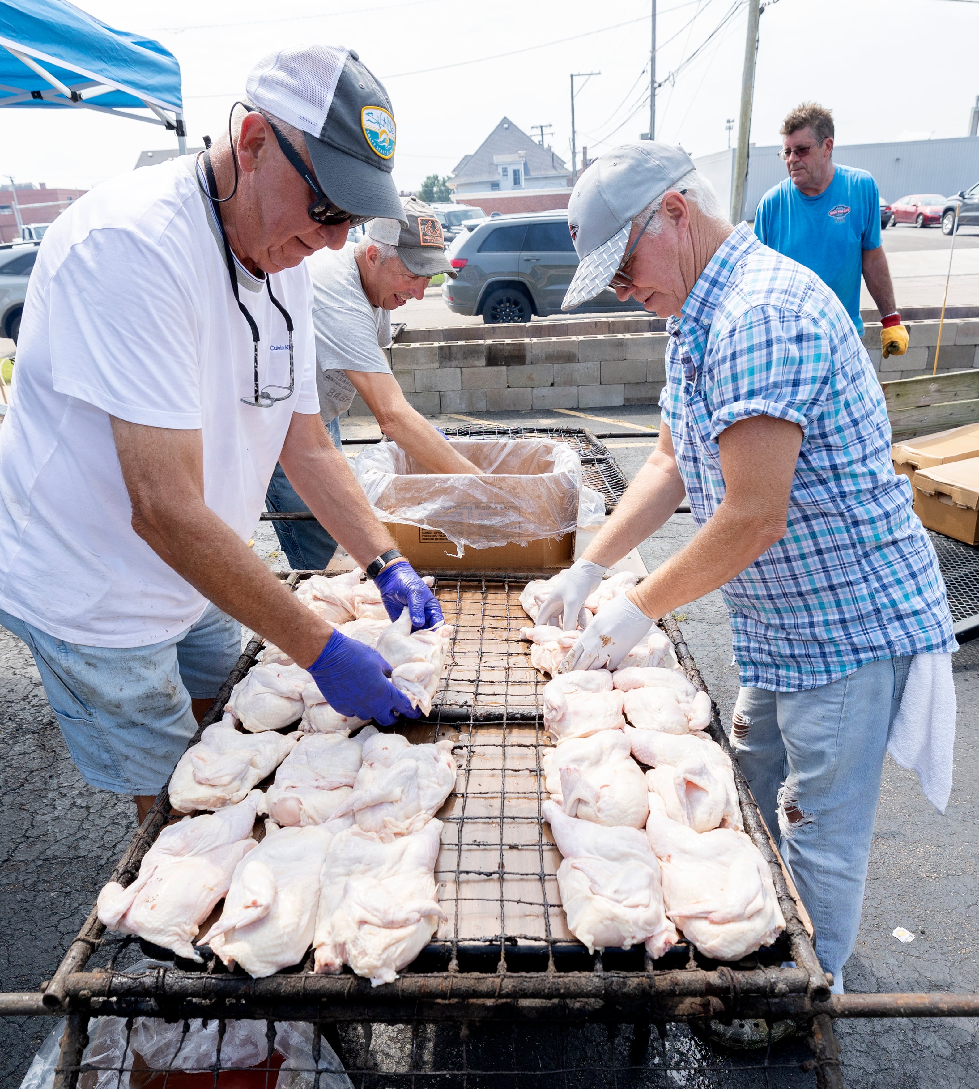
[{"label": "bright blue t-shirt on man standing in the background", "polygon": [[835,167],[824,193],[807,197],[792,180],[761,198],[755,233],[767,246],[811,269],[843,303],[857,332],[864,250],[880,245],[880,197],[866,170]]}]

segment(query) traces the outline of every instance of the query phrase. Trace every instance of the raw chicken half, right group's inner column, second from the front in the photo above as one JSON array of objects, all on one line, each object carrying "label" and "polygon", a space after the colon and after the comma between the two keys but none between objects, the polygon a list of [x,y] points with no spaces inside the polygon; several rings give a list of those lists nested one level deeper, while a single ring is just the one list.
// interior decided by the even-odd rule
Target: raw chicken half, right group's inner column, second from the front
[{"label": "raw chicken half, right group's inner column, second from the front", "polygon": [[622,731],[562,742],[544,752],[542,767],[551,800],[568,817],[609,827],[646,827],[648,787]]}]

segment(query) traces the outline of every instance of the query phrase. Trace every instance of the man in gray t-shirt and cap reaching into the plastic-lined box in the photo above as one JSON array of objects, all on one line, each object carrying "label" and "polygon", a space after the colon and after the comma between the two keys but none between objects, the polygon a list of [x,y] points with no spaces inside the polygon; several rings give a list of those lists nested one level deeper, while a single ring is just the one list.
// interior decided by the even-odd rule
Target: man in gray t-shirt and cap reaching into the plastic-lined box
[{"label": "man in gray t-shirt and cap reaching into the plastic-lined box", "polygon": [[[320,416],[339,440],[339,416],[359,393],[381,431],[430,473],[478,473],[408,404],[383,352],[391,343],[391,311],[421,298],[437,273],[457,276],[445,256],[435,209],[408,197],[403,219],[407,222],[371,220],[362,242],[321,249],[309,259]],[[272,474],[266,505],[280,512],[306,510],[281,466]],[[274,526],[293,568],[315,571],[330,562],[336,541],[318,523]]]}]

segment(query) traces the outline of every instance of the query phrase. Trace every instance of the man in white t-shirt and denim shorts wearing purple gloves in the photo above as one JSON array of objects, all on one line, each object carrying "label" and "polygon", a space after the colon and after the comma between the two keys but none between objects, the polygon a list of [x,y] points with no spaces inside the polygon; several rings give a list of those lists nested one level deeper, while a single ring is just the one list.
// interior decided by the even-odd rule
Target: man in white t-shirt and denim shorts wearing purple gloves
[{"label": "man in white t-shirt and denim shorts wearing purple gloves", "polygon": [[47,232],[0,430],[0,623],[84,778],[140,816],[236,659],[237,622],[341,713],[413,713],[379,654],[249,551],[277,461],[392,617],[441,621],[323,429],[303,265],[402,215],[391,103],[356,53],[323,46],[265,58],[247,99],[208,152],[106,182]]}]

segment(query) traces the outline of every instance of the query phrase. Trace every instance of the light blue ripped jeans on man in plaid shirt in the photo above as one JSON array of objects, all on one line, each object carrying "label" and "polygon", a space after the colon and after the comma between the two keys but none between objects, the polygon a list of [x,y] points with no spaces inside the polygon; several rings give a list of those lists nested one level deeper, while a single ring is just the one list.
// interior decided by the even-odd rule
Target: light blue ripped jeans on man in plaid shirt
[{"label": "light blue ripped jeans on man in plaid shirt", "polygon": [[806,692],[742,688],[731,744],[816,928],[833,991],[860,927],[888,734],[911,659]]}]

